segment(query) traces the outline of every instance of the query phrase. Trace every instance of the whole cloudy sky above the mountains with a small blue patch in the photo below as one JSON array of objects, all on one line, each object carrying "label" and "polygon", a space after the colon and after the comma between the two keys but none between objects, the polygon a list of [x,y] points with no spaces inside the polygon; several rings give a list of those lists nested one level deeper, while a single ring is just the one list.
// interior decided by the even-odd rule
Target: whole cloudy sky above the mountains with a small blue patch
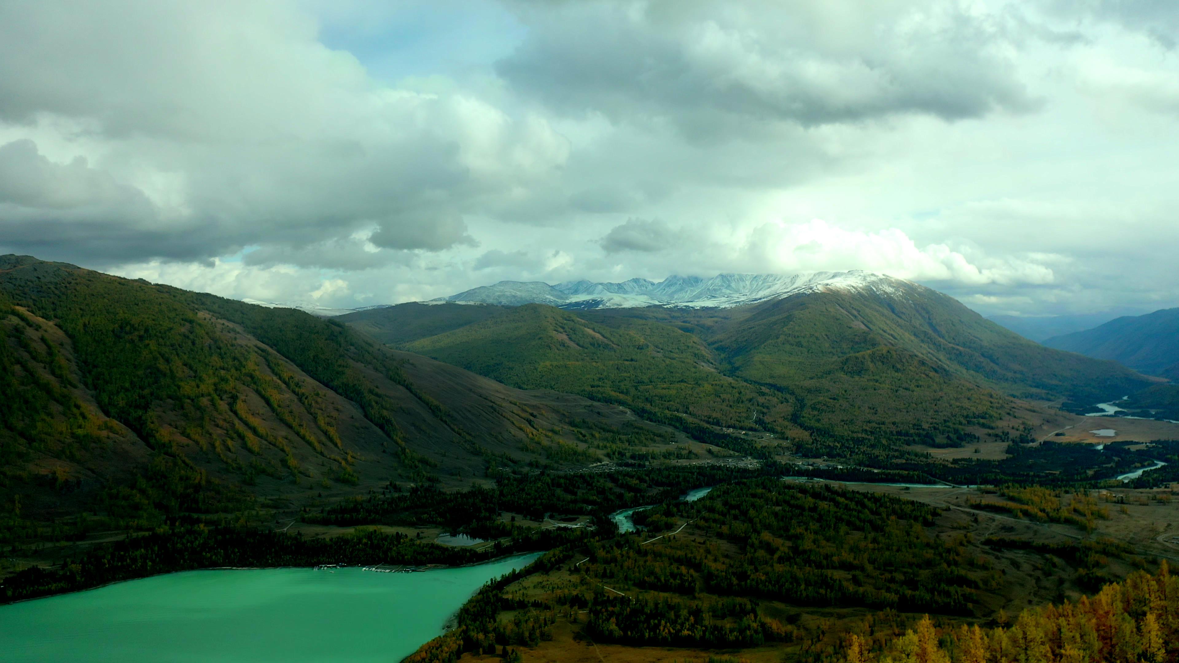
[{"label": "whole cloudy sky above the mountains with a small blue patch", "polygon": [[1173,0],[0,2],[0,252],[353,308],[864,269],[1179,306]]}]

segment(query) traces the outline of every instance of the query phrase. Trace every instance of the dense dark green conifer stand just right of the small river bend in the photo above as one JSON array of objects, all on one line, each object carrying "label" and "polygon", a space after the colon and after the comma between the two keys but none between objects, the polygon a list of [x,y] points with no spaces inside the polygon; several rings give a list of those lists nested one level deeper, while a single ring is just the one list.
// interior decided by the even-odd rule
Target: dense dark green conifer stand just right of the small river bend
[{"label": "dense dark green conifer stand just right of the small river bend", "polygon": [[692,520],[705,538],[594,543],[582,566],[660,592],[970,613],[980,569],[964,541],[926,533],[934,513],[885,495],[757,479],[635,514],[652,532]]}]

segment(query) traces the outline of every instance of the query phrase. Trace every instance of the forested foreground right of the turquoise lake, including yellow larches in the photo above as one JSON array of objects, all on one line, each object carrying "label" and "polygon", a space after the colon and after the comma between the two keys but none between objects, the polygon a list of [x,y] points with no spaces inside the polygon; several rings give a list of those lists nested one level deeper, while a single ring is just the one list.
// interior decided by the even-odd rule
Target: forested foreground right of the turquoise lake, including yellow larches
[{"label": "forested foreground right of the turquoise lake, including yellow larches", "polygon": [[[1063,504],[1109,518],[1084,492],[1010,490],[994,504]],[[1167,505],[1154,508],[1173,517]],[[1003,517],[759,478],[664,501],[633,520],[634,533],[571,540],[489,584],[460,611],[457,628],[411,661],[1172,659],[1135,644],[1175,632],[1166,558],[1069,533],[1085,532],[1084,519],[1061,520],[1061,530],[1028,519],[982,538]],[[1029,592],[1025,571],[1055,593]],[[1120,578],[1125,585],[1102,589]],[[971,658],[980,642],[989,654]]]}]

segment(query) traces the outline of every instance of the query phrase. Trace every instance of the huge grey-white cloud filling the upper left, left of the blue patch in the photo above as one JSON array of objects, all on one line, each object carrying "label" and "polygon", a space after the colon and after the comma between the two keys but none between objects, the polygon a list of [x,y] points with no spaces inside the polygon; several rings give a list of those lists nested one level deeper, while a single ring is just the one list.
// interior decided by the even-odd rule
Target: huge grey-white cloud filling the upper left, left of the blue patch
[{"label": "huge grey-white cloud filling the upper left, left of the blue patch", "polygon": [[0,155],[5,244],[91,261],[268,245],[308,264],[374,224],[382,248],[470,245],[463,215],[568,155],[528,110],[373,79],[284,1],[0,5],[0,136],[20,138]]}]

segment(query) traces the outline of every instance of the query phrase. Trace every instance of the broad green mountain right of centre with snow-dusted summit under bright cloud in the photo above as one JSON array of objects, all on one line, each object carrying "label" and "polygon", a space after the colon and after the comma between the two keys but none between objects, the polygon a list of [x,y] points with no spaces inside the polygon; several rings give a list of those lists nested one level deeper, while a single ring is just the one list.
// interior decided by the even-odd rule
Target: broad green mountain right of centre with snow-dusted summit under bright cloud
[{"label": "broad green mountain right of centre with snow-dusted summit under bright cloud", "polygon": [[988,426],[1001,395],[1094,403],[1150,381],[1113,362],[1045,348],[918,285],[881,298],[855,291],[755,307],[709,339],[733,375],[799,394],[799,424],[831,434],[911,432],[929,444]]}]

